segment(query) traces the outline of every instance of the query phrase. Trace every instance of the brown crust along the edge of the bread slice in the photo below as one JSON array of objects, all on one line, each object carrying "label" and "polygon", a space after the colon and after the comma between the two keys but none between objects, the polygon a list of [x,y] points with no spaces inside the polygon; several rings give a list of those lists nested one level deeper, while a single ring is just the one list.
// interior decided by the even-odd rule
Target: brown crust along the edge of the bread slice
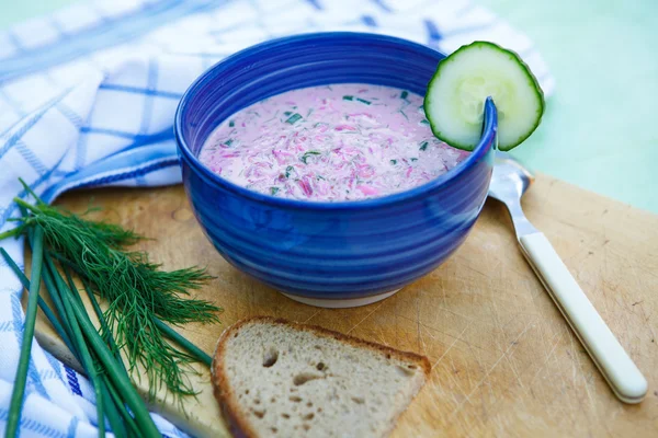
[{"label": "brown crust along the edge of the bread slice", "polygon": [[234,393],[232,388],[229,384],[228,378],[224,372],[223,358],[226,349],[226,341],[234,334],[240,331],[240,328],[248,324],[272,324],[272,325],[286,325],[297,331],[309,332],[317,336],[330,337],[341,343],[349,344],[359,348],[367,348],[373,351],[381,353],[387,358],[395,357],[398,360],[412,361],[420,367],[426,376],[429,378],[431,372],[430,361],[427,357],[418,355],[411,351],[401,351],[395,348],[387,347],[385,345],[372,343],[368,341],[360,339],[354,336],[344,335],[332,330],[320,327],[318,325],[300,324],[293,321],[284,320],[282,318],[273,316],[250,316],[242,319],[230,327],[226,328],[217,341],[215,347],[215,355],[213,356],[213,365],[211,367],[212,380],[213,380],[213,393],[215,399],[219,403],[220,413],[227,422],[227,426],[234,437],[245,438],[257,438],[258,434],[251,428],[249,422],[241,415],[239,405],[237,403],[237,396]]}]

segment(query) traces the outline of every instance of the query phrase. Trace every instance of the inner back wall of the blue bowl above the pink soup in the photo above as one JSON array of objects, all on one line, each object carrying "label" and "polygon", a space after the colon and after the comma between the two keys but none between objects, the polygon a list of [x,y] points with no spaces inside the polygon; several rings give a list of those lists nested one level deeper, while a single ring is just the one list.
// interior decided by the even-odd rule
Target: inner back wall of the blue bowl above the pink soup
[{"label": "inner back wall of the blue bowl above the pink soup", "polygon": [[[331,35],[331,37],[328,37]],[[273,41],[223,60],[186,93],[182,137],[194,157],[226,118],[285,91],[332,83],[368,83],[424,95],[444,55],[381,35],[309,34]]]}]

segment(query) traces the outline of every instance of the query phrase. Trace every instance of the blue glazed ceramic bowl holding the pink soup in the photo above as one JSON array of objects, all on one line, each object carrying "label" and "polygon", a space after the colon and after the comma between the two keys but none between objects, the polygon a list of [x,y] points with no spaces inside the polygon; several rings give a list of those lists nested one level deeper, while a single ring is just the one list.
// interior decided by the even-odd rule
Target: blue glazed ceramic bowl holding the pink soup
[{"label": "blue glazed ceramic bowl holding the pink soup", "polygon": [[341,82],[424,95],[443,58],[405,39],[319,33],[247,48],[198,78],[181,100],[174,130],[185,192],[219,254],[291,298],[327,307],[377,301],[436,268],[466,239],[487,196],[497,128],[490,102],[481,140],[465,161],[375,199],[272,197],[219,177],[197,155],[223,120],[262,99]]}]

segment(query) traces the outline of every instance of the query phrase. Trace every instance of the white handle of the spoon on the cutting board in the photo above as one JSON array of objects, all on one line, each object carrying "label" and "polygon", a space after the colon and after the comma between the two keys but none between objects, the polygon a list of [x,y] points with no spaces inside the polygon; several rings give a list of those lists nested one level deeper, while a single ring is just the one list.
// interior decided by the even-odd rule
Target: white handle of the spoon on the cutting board
[{"label": "white handle of the spoon on the cutting board", "polygon": [[639,403],[647,393],[646,379],[587,299],[548,239],[536,232],[521,237],[519,242],[553,301],[616,396],[625,403]]}]

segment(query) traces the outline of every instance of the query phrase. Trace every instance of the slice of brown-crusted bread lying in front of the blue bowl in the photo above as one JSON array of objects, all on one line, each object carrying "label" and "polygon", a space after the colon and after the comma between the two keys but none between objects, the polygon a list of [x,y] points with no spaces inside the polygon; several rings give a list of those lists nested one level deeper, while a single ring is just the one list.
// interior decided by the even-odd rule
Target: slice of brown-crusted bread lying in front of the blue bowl
[{"label": "slice of brown-crusted bread lying in front of the blue bowl", "polygon": [[227,328],[215,397],[243,437],[385,437],[424,384],[426,357],[313,325],[251,318]]}]

